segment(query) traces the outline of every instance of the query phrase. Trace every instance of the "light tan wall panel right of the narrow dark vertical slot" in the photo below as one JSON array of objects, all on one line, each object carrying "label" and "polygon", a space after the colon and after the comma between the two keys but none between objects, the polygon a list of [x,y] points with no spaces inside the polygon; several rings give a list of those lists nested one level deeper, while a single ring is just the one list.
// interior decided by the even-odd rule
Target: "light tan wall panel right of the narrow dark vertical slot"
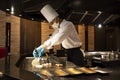
[{"label": "light tan wall panel right of the narrow dark vertical slot", "polygon": [[7,17],[11,23],[11,53],[20,53],[20,18],[16,16]]}]

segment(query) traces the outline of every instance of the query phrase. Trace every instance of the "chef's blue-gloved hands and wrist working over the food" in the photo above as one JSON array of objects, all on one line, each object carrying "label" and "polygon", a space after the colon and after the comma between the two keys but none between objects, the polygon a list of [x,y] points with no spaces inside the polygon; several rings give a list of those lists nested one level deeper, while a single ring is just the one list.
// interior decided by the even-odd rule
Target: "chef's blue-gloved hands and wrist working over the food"
[{"label": "chef's blue-gloved hands and wrist working over the food", "polygon": [[41,46],[37,47],[34,51],[33,51],[33,56],[35,58],[37,57],[41,57],[44,53],[45,53],[45,48],[47,46],[45,44],[42,44]]}]

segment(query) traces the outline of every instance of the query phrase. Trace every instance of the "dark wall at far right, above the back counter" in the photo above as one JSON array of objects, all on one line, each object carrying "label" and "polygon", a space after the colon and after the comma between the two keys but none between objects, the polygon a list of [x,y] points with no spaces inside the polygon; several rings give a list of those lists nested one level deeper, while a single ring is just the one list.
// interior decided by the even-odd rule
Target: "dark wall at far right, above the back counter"
[{"label": "dark wall at far right, above the back counter", "polygon": [[120,27],[95,27],[95,50],[120,50]]}]

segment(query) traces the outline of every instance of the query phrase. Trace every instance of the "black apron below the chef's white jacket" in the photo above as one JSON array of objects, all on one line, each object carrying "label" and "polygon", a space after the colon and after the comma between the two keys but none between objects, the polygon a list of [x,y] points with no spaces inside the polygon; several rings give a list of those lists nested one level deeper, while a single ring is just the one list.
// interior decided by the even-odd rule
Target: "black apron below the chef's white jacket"
[{"label": "black apron below the chef's white jacket", "polygon": [[84,56],[80,47],[65,49],[67,60],[73,62],[77,66],[84,66]]}]

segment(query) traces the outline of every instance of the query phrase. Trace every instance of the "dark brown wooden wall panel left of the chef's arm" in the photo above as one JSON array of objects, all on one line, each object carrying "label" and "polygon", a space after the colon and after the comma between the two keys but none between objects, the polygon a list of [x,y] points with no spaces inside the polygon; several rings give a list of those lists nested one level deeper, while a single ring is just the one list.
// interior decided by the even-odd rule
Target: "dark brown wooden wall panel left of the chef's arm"
[{"label": "dark brown wooden wall panel left of the chef's arm", "polygon": [[21,19],[21,53],[32,53],[41,44],[40,22]]}]

